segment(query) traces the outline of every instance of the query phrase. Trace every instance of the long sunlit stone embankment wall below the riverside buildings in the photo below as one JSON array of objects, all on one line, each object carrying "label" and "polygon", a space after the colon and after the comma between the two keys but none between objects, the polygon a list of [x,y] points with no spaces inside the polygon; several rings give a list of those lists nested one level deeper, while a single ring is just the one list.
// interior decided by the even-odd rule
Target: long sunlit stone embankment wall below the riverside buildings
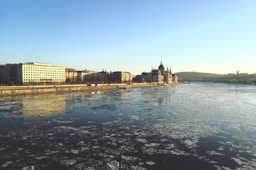
[{"label": "long sunlit stone embankment wall below the riverside buildings", "polygon": [[[183,83],[172,83],[172,85],[182,85]],[[24,95],[37,95],[37,94],[60,94],[69,92],[104,92],[108,90],[129,89],[138,87],[158,87],[159,84],[148,83],[133,83],[127,84],[110,84],[99,86],[87,85],[33,85],[33,86],[6,86],[0,87],[0,97],[4,96],[24,96]]]}]

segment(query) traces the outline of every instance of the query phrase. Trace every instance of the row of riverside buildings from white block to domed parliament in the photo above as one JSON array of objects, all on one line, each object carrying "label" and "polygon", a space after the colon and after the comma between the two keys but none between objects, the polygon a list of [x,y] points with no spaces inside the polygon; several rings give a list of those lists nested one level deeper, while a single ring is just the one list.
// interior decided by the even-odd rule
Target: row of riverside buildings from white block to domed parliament
[{"label": "row of riverside buildings from white block to domed parliament", "polygon": [[132,76],[126,71],[77,71],[74,68],[52,66],[40,62],[3,64],[0,66],[2,85],[60,85],[65,83],[178,83],[172,70],[165,71],[161,62],[158,69]]}]

